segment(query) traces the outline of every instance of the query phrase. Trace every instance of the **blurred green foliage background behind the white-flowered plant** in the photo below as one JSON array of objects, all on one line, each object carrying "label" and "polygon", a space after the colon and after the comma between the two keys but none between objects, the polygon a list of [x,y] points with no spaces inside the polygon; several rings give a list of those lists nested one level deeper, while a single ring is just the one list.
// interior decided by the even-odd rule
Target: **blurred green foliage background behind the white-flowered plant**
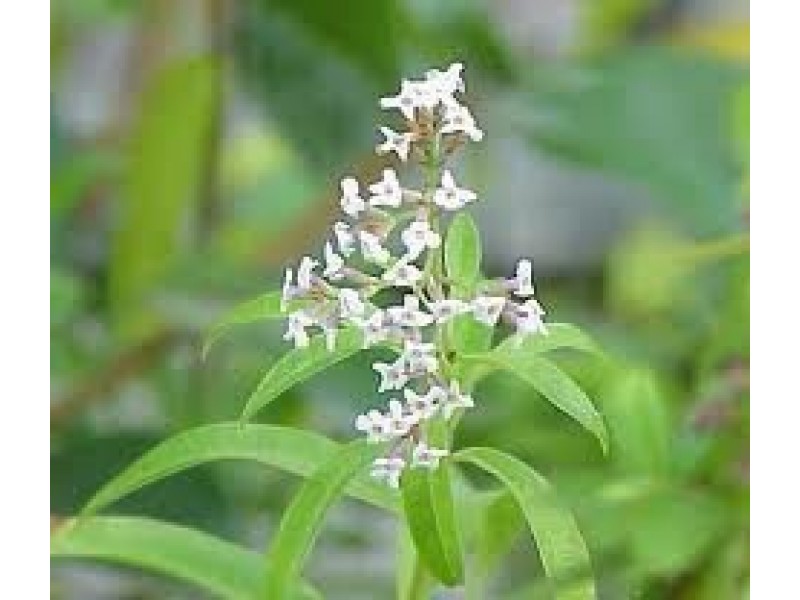
[{"label": "blurred green foliage background behind the white-flowered plant", "polygon": [[[378,97],[461,60],[487,132],[458,165],[482,199],[486,269],[532,257],[550,319],[580,324],[608,351],[563,364],[596,399],[612,448],[604,458],[531,388],[500,377],[477,390],[457,445],[509,451],[556,483],[601,598],[747,597],[748,10],[745,0],[54,2],[54,526],[158,440],[238,415],[286,349],[279,328],[240,328],[205,360],[204,331],[321,247],[342,176],[382,168]],[[368,363],[345,362],[261,419],[352,437],[353,415],[374,402]],[[115,512],[260,549],[297,483],[214,465]],[[491,598],[546,597],[521,533]],[[385,515],[344,502],[309,578],[332,599],[390,598],[394,536]],[[202,597],[77,562],[53,566],[52,589]]]}]

